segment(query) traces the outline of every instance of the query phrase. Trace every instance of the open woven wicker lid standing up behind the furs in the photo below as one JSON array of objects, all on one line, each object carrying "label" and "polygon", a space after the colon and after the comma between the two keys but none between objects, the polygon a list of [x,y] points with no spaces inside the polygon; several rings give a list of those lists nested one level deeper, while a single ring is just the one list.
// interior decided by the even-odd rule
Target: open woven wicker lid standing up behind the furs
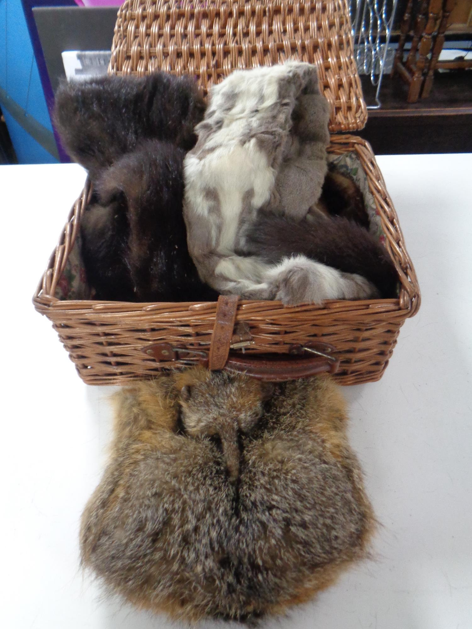
[{"label": "open woven wicker lid standing up behind the furs", "polygon": [[317,65],[330,131],[365,125],[346,0],[126,0],[109,72],[191,74],[207,93],[232,70],[288,58]]}]

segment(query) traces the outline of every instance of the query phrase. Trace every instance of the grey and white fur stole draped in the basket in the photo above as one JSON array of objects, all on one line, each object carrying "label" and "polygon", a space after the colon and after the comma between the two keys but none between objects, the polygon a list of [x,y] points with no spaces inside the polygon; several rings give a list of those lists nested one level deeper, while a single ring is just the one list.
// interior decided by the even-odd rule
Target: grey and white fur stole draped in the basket
[{"label": "grey and white fur stole draped in the basket", "polygon": [[237,71],[213,87],[184,160],[184,219],[199,276],[218,292],[291,305],[378,295],[364,277],[304,255],[269,264],[247,250],[261,211],[303,220],[317,203],[328,118],[310,64]]}]

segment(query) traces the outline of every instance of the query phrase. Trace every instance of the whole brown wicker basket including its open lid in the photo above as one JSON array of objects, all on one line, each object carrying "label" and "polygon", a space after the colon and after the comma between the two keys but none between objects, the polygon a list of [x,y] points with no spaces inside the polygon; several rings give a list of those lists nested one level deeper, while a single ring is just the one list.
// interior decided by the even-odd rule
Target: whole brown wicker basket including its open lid
[{"label": "whole brown wicker basket including its open lid", "polygon": [[[366,121],[352,54],[351,23],[342,0],[130,0],[118,11],[111,73],[147,74],[157,69],[195,75],[206,92],[232,69],[272,65],[288,57],[318,67],[332,108],[330,130],[359,130]],[[244,324],[252,344],[248,353],[291,351],[294,345],[322,341],[340,360],[339,384],[378,380],[388,364],[398,331],[420,306],[420,292],[403,242],[395,209],[368,143],[352,135],[333,135],[331,153],[355,152],[366,173],[385,246],[398,270],[396,299],[328,301],[323,307],[285,308],[277,301],[241,301],[236,323]],[[33,298],[46,315],[87,384],[123,384],[159,370],[189,364],[191,353],[169,363],[143,349],[210,347],[216,303],[118,303],[60,301],[58,282],[74,246],[82,211],[91,194],[86,182],[65,225]],[[238,345],[236,345],[238,347]],[[240,350],[242,351],[242,350]]]}]

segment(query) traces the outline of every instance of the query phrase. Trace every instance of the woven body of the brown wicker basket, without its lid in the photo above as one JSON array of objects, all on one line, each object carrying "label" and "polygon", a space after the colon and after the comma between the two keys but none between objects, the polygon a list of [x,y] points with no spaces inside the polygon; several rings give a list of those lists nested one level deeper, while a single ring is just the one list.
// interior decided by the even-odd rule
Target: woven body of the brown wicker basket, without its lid
[{"label": "woven body of the brown wicker basket, without its lid", "polygon": [[[339,384],[378,380],[391,357],[400,327],[420,304],[415,272],[371,148],[354,136],[332,136],[331,152],[352,150],[366,170],[378,205],[385,245],[398,270],[399,298],[329,301],[323,307],[296,308],[284,308],[277,301],[244,301],[237,311],[237,321],[249,326],[255,340],[247,352],[286,353],[290,345],[304,345],[315,338],[334,345],[340,359],[335,376]],[[215,303],[99,303],[59,301],[53,297],[89,194],[87,182],[34,296],[36,308],[53,322],[84,382],[122,384],[156,374],[160,367],[169,364],[158,365],[142,353],[142,348],[150,343],[165,341],[176,347],[208,349]]]}]

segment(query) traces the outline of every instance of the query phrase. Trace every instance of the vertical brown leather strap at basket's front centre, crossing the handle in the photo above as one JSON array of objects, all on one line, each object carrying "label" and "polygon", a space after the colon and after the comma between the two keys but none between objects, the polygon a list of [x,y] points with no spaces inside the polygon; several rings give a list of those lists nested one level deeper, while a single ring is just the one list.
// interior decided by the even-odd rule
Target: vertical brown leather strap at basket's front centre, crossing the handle
[{"label": "vertical brown leather strap at basket's front centre, crossing the handle", "polygon": [[230,353],[233,338],[238,295],[220,295],[216,306],[215,327],[211,336],[208,369],[216,371],[224,369]]}]

